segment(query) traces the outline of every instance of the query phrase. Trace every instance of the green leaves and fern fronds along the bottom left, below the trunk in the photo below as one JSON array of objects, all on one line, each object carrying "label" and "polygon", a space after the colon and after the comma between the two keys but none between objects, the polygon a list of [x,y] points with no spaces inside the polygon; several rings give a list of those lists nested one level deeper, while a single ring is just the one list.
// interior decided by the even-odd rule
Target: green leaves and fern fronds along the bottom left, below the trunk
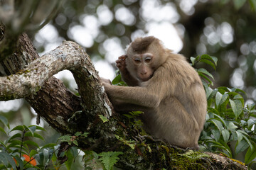
[{"label": "green leaves and fern fronds along the bottom left, below the trunk", "polygon": [[[35,137],[44,140],[38,133],[38,131],[44,130],[40,126],[17,125],[10,130],[8,120],[1,115],[0,122],[4,125],[4,128],[0,127],[0,132],[6,136],[6,140],[0,141],[0,169],[60,169],[60,166],[63,165],[66,169],[72,169],[79,152],[82,152],[77,147],[70,147],[63,152],[60,151],[58,144],[47,144],[39,147],[32,140]],[[88,132],[76,132],[74,135],[63,135],[59,137],[59,141],[67,142],[70,146],[78,146],[78,138],[81,140],[88,134]],[[83,157],[85,169],[103,168],[110,170],[122,152],[97,154],[93,151],[85,151],[83,154],[85,154]],[[59,158],[63,158],[64,161],[58,160]]]}]

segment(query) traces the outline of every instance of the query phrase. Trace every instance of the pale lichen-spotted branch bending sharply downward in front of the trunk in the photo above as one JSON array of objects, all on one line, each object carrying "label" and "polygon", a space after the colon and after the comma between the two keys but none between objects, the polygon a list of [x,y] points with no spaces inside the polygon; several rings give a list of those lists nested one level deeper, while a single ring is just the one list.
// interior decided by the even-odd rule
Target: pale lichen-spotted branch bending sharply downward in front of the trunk
[{"label": "pale lichen-spotted branch bending sharply downward in front of the trunk", "polygon": [[[35,94],[47,79],[63,69],[70,69],[73,72],[87,110],[95,111],[95,106],[100,108],[100,103],[104,103],[108,111],[107,118],[109,118],[112,114],[109,107],[111,104],[106,100],[107,96],[104,94],[100,78],[90,58],[80,45],[70,41],[64,41],[55,50],[31,62],[26,69],[11,76],[0,77],[0,100],[8,101]],[[84,84],[91,84],[91,86],[84,86]],[[91,101],[97,101],[97,103]]]}]

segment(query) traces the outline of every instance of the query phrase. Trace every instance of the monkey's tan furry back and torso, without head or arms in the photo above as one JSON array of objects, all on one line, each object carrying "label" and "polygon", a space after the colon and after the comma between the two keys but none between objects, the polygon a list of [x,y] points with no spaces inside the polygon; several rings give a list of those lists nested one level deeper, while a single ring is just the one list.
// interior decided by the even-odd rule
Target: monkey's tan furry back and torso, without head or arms
[{"label": "monkey's tan furry back and torso, without head or arms", "polygon": [[[206,93],[198,73],[182,55],[171,54],[148,82],[159,106],[144,118],[151,135],[179,147],[197,147],[206,117]],[[146,114],[145,114],[146,117]]]}]

